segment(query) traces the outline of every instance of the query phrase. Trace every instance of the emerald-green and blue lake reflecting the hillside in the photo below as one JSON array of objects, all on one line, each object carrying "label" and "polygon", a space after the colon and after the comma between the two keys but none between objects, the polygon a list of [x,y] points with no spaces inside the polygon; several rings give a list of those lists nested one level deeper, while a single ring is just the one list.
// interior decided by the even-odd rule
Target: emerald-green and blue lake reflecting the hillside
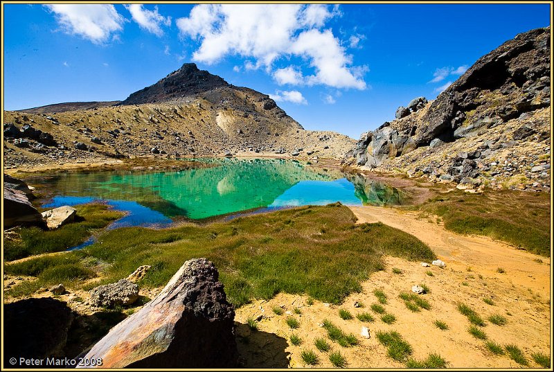
[{"label": "emerald-green and blue lake reflecting the hillside", "polygon": [[[359,175],[283,159],[212,159],[209,167],[172,172],[90,172],[44,177],[47,207],[102,200],[127,216],[111,227],[165,226],[259,208],[400,204],[395,188]],[[35,183],[39,180],[35,180]]]}]

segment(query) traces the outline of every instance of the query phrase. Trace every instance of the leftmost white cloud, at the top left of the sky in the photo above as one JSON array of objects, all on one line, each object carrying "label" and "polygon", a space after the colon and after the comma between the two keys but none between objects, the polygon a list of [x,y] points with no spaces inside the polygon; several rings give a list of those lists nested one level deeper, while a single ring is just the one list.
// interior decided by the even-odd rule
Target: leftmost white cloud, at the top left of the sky
[{"label": "leftmost white cloud, at the top left of the sky", "polygon": [[112,33],[123,30],[125,19],[109,4],[45,5],[55,13],[57,23],[69,35],[79,35],[95,44],[103,44]]}]

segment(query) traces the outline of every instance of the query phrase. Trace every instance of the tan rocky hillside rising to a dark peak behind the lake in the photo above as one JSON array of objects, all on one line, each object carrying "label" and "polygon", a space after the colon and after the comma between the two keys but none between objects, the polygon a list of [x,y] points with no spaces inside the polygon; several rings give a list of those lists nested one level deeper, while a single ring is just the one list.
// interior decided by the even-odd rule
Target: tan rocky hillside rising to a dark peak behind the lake
[{"label": "tan rocky hillside rising to a dark peak behind the lake", "polygon": [[355,143],[335,132],[304,130],[269,96],[229,85],[195,64],[116,105],[80,108],[89,104],[4,112],[6,166],[137,156],[339,158]]}]

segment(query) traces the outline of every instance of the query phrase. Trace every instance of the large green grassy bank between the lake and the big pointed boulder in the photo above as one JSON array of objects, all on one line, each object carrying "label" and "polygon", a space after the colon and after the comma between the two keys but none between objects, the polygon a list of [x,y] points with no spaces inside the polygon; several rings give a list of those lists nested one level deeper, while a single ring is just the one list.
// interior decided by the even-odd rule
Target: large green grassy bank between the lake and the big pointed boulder
[{"label": "large green grassy bank between the lake and the big pointed boulder", "polygon": [[[408,233],[381,223],[356,225],[355,220],[350,209],[330,204],[201,226],[116,229],[80,251],[6,265],[8,274],[39,278],[8,294],[57,283],[88,289],[83,279],[91,277],[93,269],[107,283],[125,278],[140,265],[152,265],[141,285],[161,287],[186,260],[206,257],[219,269],[234,305],[270,299],[278,292],[306,293],[320,301],[341,303],[361,290],[361,281],[371,272],[384,269],[383,255],[435,258],[427,245]],[[71,274],[63,276],[70,266]]]}]

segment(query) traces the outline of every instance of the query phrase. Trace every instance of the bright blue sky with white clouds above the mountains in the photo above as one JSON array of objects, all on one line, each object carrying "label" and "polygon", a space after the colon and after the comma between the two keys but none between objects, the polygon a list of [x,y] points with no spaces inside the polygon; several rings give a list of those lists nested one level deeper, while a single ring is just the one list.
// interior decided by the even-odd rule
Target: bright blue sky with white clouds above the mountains
[{"label": "bright blue sky with white clouds above the mountains", "polygon": [[185,62],[355,139],[479,57],[550,24],[542,4],[3,3],[4,109],[123,100]]}]

